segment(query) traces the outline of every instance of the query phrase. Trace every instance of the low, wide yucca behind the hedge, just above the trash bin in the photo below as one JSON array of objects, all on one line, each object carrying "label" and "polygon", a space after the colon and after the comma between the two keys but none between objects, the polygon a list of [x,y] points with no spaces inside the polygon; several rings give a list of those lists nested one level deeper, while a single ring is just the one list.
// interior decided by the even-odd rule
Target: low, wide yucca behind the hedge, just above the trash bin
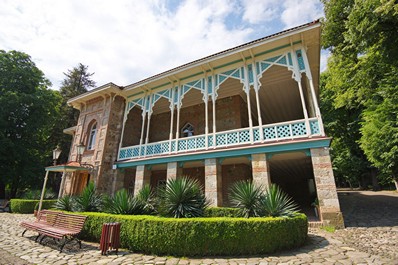
[{"label": "low, wide yucca behind the hedge, just above the trash bin", "polygon": [[141,214],[144,211],[143,205],[126,189],[118,190],[113,197],[105,197],[103,210],[113,214]]}]

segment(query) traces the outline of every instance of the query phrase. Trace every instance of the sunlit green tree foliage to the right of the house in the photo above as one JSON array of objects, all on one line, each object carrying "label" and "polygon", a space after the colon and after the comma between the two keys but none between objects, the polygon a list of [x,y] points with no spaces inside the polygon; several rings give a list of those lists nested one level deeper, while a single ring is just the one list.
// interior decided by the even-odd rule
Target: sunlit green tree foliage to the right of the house
[{"label": "sunlit green tree foliage to the right of the house", "polygon": [[380,177],[396,176],[398,5],[393,0],[322,2],[322,44],[332,56],[322,74],[321,98],[329,104],[324,115],[335,113],[327,125],[337,140],[335,166],[352,176],[353,170],[360,175],[372,170],[371,163]]}]

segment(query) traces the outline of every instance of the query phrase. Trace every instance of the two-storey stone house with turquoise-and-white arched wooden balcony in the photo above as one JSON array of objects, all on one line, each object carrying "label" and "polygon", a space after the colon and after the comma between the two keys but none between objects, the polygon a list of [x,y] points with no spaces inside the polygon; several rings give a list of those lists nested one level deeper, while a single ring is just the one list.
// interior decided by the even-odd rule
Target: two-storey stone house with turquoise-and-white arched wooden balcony
[{"label": "two-storey stone house with turquoise-and-white arched wooden balcony", "polygon": [[[188,176],[214,206],[239,180],[276,183],[320,219],[343,226],[331,139],[319,109],[320,23],[308,23],[179,66],[137,83],[106,84],[71,99],[80,110],[63,194],[89,180],[105,193],[136,193]],[[83,143],[81,157],[77,146]]]}]

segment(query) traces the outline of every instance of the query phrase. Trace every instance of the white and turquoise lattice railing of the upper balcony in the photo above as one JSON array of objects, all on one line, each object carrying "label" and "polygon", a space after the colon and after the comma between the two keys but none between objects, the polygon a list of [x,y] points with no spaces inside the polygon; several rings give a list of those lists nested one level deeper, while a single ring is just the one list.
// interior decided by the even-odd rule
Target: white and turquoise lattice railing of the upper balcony
[{"label": "white and turquoise lattice railing of the upper balcony", "polygon": [[197,135],[180,139],[166,140],[156,143],[123,147],[119,150],[118,160],[147,158],[165,154],[180,154],[184,152],[232,147],[242,144],[262,143],[321,135],[317,118],[309,119],[309,131],[305,120],[295,120],[261,126],[263,139],[260,137],[260,127],[242,128],[215,134]]}]

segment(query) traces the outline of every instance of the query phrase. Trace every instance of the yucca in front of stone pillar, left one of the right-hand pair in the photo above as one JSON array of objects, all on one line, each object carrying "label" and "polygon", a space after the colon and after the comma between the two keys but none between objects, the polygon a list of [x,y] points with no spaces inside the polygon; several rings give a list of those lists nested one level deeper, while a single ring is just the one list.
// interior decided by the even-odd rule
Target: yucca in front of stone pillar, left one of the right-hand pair
[{"label": "yucca in front of stone pillar, left one of the right-hand pair", "polygon": [[235,182],[230,188],[229,200],[233,207],[239,209],[242,217],[259,216],[259,201],[262,196],[260,187],[256,187],[251,181]]}]

